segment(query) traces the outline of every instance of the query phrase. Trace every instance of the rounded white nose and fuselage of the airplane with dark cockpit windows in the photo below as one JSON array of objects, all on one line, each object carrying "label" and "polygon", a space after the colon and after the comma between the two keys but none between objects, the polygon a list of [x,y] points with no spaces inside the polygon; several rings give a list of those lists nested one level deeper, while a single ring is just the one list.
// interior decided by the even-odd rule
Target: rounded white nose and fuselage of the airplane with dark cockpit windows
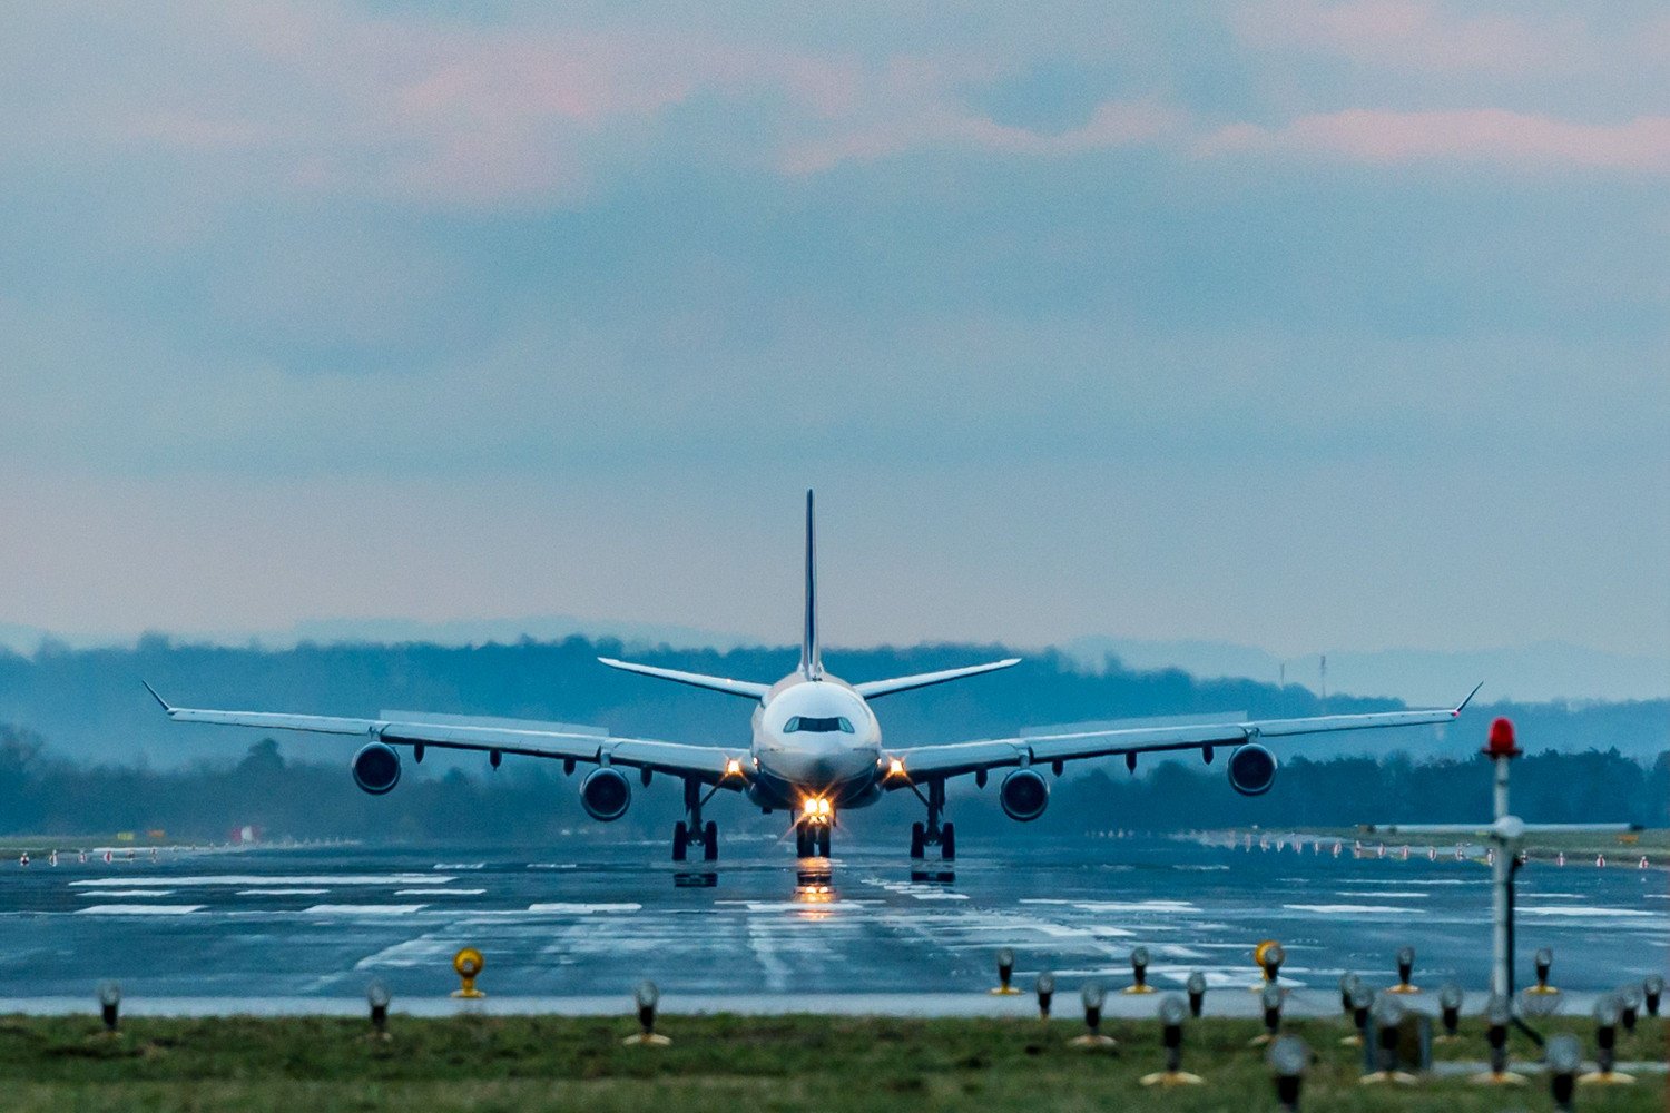
[{"label": "rounded white nose and fuselage of the airplane with dark cockpit windows", "polygon": [[798,808],[808,798],[845,808],[880,793],[882,726],[852,684],[833,676],[790,674],[753,713],[750,796],[768,808]]}]

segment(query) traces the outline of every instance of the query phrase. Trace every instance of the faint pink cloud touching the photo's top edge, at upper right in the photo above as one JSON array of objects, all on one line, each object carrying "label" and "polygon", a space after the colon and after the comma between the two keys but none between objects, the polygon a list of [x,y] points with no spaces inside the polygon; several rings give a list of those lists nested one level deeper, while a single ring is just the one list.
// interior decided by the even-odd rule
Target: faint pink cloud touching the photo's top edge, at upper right
[{"label": "faint pink cloud touching the photo's top edge, at upper right", "polygon": [[1339,53],[1371,67],[1523,73],[1583,50],[1581,20],[1446,12],[1426,0],[1269,0],[1236,12],[1242,40]]}]

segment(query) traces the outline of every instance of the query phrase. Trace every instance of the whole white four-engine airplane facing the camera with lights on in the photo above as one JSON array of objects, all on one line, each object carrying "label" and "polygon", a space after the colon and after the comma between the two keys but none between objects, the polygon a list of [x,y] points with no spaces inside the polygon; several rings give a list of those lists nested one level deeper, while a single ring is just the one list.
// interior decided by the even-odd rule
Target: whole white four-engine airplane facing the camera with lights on
[{"label": "whole white four-engine airplane facing the camera with lights on", "polygon": [[1224,766],[1231,788],[1244,796],[1261,796],[1276,779],[1276,756],[1263,744],[1264,739],[1450,723],[1478,694],[1475,687],[1456,708],[1431,711],[1087,726],[1020,738],[892,746],[882,741],[873,701],[1009,669],[1020,657],[858,684],[825,672],[818,646],[813,522],[813,494],[808,491],[800,664],[788,676],[775,684],[762,684],[598,657],[611,669],[750,701],[753,723],[745,746],[616,738],[595,728],[474,716],[384,711],[377,719],[344,719],[207,711],[175,708],[150,684],[145,689],[175,723],[366,739],[354,753],[349,771],[354,783],[372,796],[399,784],[401,758],[396,748],[411,748],[412,759],[419,763],[434,748],[486,751],[494,769],[504,754],[556,759],[563,763],[566,774],[573,774],[579,764],[595,766],[579,783],[579,803],[593,819],[603,823],[620,819],[631,804],[631,778],[625,771],[636,771],[645,786],[653,774],[673,776],[683,783],[685,791],[685,818],[673,826],[675,861],[686,861],[695,846],[701,848],[705,861],[718,858],[718,824],[703,821],[703,808],[720,789],[743,794],[765,814],[787,811],[793,818],[800,858],[830,856],[830,833],[842,811],[867,808],[893,793],[910,793],[927,809],[925,821],[910,828],[910,856],[925,858],[927,848],[935,846],[940,858],[950,861],[957,856],[957,829],[945,819],[945,783],[954,778],[972,776],[979,788],[985,788],[994,769],[1009,769],[997,789],[999,804],[1010,819],[1030,823],[1049,804],[1050,781],[1042,769],[1059,778],[1067,761],[1124,756],[1126,766],[1134,771],[1139,754],[1186,751],[1199,751],[1211,763],[1217,748],[1229,746],[1232,749]]}]

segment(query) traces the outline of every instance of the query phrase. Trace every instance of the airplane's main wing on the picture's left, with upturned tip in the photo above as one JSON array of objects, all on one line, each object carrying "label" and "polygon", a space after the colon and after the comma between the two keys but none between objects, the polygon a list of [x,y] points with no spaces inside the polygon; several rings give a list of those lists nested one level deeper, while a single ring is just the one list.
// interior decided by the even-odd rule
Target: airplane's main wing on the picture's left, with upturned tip
[{"label": "airplane's main wing on the picture's left, with upturned tip", "polygon": [[444,721],[451,716],[387,719],[341,719],[317,714],[274,714],[269,711],[209,711],[202,708],[175,708],[145,684],[162,709],[175,723],[215,723],[222,726],[254,726],[267,731],[304,731],[309,734],[344,734],[367,743],[389,746],[434,746],[436,749],[474,749],[526,758],[558,758],[588,764],[628,766],[651,769],[673,776],[695,776],[706,784],[745,788],[748,784],[746,749],[735,753],[721,748],[660,743],[643,738],[613,738],[608,733],[551,724],[516,723],[491,726]]}]

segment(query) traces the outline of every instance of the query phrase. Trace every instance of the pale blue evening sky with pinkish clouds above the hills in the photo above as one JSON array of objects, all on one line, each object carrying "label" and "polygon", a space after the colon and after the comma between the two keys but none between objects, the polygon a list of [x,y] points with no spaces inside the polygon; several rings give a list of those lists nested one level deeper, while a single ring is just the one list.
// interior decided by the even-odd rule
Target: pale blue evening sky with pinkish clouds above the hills
[{"label": "pale blue evening sky with pinkish clouds above the hills", "polygon": [[1662,3],[5,5],[0,103],[0,622],[787,642],[817,487],[835,644],[1670,656]]}]

